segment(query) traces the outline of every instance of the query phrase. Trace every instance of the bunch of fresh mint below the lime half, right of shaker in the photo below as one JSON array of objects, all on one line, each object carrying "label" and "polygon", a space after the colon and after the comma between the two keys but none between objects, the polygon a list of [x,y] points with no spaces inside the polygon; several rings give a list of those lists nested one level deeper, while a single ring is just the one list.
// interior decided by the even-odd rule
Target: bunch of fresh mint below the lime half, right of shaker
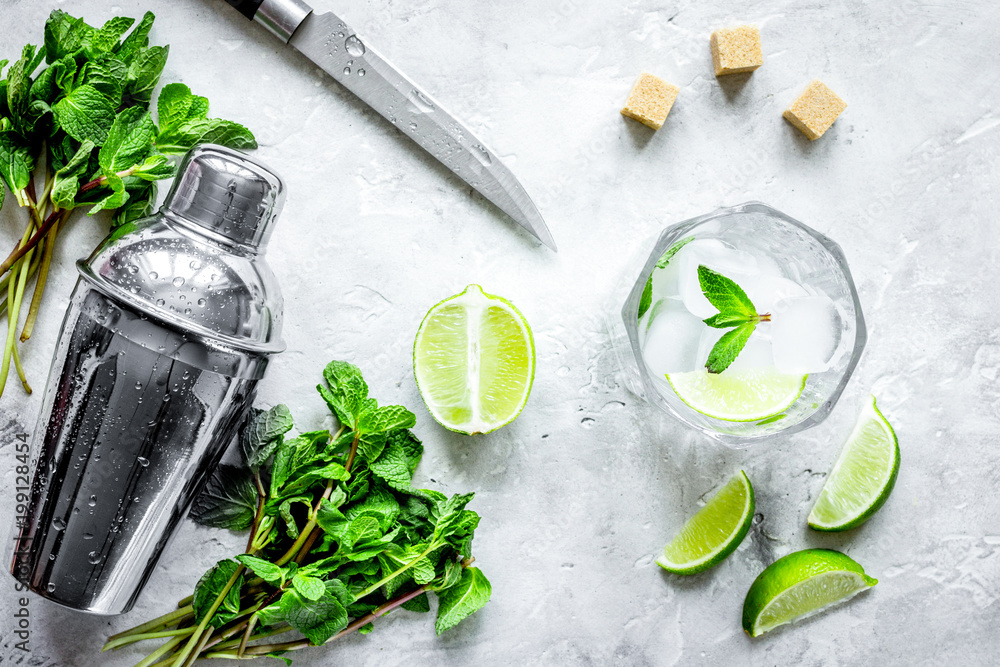
[{"label": "bunch of fresh mint below the lime half, right of shaker", "polygon": [[[243,464],[221,466],[196,501],[195,521],[250,530],[245,553],[205,573],[177,610],[104,650],[165,638],[140,664],[278,657],[370,632],[396,607],[429,611],[429,591],[438,634],[486,604],[490,583],[470,566],[472,494],[413,488],[423,452],[413,413],[380,407],[349,363],[331,362],[323,375],[336,432],[287,437],[288,408],[254,410],[240,437]],[[271,639],[292,631],[304,638]]]}]

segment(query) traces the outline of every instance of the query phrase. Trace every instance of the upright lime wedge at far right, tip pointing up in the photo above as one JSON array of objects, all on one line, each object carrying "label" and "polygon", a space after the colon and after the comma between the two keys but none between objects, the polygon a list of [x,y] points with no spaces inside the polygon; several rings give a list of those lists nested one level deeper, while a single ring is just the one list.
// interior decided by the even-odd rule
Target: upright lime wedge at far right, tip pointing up
[{"label": "upright lime wedge at far right, tip pointing up", "polygon": [[809,513],[810,528],[860,526],[889,498],[898,473],[899,442],[872,396]]}]

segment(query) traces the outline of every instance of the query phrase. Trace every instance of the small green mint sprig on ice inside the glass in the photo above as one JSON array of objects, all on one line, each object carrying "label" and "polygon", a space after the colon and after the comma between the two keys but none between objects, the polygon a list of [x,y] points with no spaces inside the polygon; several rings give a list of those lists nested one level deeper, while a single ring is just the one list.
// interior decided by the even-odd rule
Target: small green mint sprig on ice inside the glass
[{"label": "small green mint sprig on ice inside the glass", "polygon": [[715,343],[705,361],[709,373],[721,373],[743,351],[757,324],[769,322],[771,314],[757,313],[742,287],[704,264],[698,266],[698,282],[708,302],[719,309],[718,313],[703,320],[705,324],[715,329],[732,328]]}]

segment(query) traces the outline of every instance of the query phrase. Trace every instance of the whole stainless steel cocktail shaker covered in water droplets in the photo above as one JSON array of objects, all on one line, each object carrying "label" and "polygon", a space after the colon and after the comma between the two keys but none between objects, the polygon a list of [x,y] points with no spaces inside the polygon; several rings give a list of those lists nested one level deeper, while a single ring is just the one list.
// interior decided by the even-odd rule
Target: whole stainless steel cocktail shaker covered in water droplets
[{"label": "whole stainless steel cocktail shaker covered in water droplets", "polygon": [[283,349],[264,260],[283,199],[264,166],[196,147],[159,213],[78,262],[11,566],[31,590],[131,608]]}]

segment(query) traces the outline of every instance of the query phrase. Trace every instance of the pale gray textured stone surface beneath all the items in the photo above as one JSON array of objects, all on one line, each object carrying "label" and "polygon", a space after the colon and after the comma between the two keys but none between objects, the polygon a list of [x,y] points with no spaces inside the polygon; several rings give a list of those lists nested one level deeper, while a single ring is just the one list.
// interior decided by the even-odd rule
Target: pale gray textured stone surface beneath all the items
[{"label": "pale gray textured stone surface beneath all the items", "polygon": [[[321,7],[332,1],[317,0]],[[209,95],[254,129],[288,181],[270,257],[288,351],[263,404],[323,422],[313,390],[333,358],[373,394],[415,408],[420,481],[477,492],[487,608],[436,638],[407,612],[296,664],[985,665],[1000,651],[1000,9],[990,2],[368,0],[339,7],[468,121],[535,195],[560,245],[537,247],[481,197],[295,53],[216,0],[0,0],[0,56],[37,41],[52,5],[92,22],[159,15],[164,82]],[[712,76],[715,27],[757,22],[764,66]],[[642,69],[681,86],[653,133],[618,108]],[[849,104],[810,143],[781,111],[812,78]],[[819,427],[733,451],[674,423],[616,379],[603,318],[629,259],[663,226],[759,199],[840,242],[869,323],[864,358]],[[23,222],[0,213],[2,244]],[[38,333],[36,393],[0,403],[0,515],[14,498],[11,436],[31,431],[72,260],[106,230],[78,217],[59,246]],[[508,428],[474,439],[423,409],[411,371],[424,312],[470,282],[514,301],[538,348],[534,392]],[[864,397],[899,434],[892,498],[862,528],[805,518]],[[718,568],[680,579],[653,555],[739,468],[761,520]],[[431,479],[435,481],[431,481]],[[129,665],[103,637],[168,609],[241,538],[187,523],[135,610],[97,618],[32,599],[30,656],[12,647],[0,578],[0,664]],[[751,641],[743,596],[790,551],[842,549],[880,579],[847,606]]]}]

